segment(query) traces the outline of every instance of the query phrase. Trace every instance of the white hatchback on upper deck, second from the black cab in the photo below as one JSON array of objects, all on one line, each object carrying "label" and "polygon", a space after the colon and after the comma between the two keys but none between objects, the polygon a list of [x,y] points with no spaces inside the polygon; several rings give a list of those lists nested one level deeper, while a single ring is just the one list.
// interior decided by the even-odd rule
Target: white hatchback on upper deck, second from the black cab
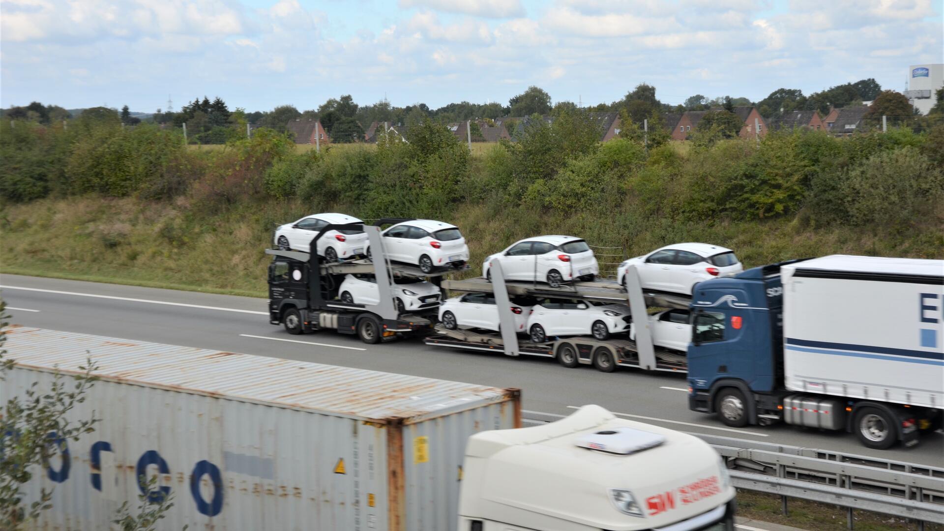
[{"label": "white hatchback on upper deck, second from the black cab", "polygon": [[413,219],[383,231],[387,256],[396,262],[419,266],[424,273],[436,267],[465,266],[469,248],[459,228],[432,219]]}]

